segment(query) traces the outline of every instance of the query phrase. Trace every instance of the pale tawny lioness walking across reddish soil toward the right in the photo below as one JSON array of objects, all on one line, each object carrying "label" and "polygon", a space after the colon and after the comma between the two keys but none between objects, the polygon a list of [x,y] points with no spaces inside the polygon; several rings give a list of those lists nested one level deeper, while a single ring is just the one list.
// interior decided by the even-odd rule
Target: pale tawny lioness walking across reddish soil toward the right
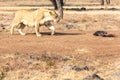
[{"label": "pale tawny lioness walking across reddish soil toward the right", "polygon": [[16,12],[13,19],[10,32],[13,34],[14,28],[18,28],[18,32],[21,35],[25,35],[22,30],[25,26],[35,27],[37,36],[41,36],[39,33],[39,27],[45,25],[48,29],[52,30],[51,35],[54,34],[55,28],[51,22],[58,22],[60,19],[55,10],[49,9],[37,9],[37,10],[19,10]]}]

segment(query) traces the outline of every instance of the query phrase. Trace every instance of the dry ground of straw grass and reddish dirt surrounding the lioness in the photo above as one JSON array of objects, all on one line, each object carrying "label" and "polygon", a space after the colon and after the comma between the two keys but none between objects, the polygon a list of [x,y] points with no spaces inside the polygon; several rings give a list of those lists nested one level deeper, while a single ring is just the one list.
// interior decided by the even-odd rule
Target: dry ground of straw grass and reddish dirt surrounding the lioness
[{"label": "dry ground of straw grass and reddish dirt surrounding the lioness", "polygon": [[[119,80],[120,12],[65,11],[56,34],[34,28],[10,35],[13,13],[0,14],[0,80]],[[105,30],[115,37],[93,36]]]}]

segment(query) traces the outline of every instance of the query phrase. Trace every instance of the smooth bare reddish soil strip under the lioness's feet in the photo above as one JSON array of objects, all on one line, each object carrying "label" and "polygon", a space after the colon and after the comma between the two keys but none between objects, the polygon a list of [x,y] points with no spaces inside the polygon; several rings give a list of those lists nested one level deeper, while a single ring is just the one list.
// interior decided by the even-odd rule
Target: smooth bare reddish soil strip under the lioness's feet
[{"label": "smooth bare reddish soil strip under the lioness's feet", "polygon": [[[21,36],[10,35],[2,32],[0,34],[0,53],[39,53],[50,51],[57,53],[74,53],[77,49],[92,51],[92,54],[110,54],[120,51],[120,32],[112,31],[116,37],[96,37],[90,31],[56,31],[54,36],[50,32],[42,32],[42,37],[33,34]],[[97,54],[98,55],[98,54]]]}]

